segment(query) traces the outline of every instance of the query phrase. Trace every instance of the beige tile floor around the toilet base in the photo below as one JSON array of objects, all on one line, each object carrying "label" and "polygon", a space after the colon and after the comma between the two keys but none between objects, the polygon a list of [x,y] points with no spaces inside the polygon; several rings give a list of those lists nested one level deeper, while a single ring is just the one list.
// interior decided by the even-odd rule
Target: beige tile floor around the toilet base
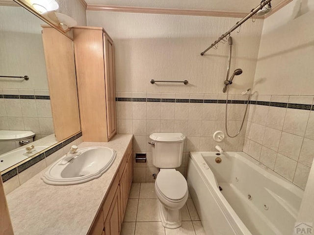
[{"label": "beige tile floor around the toilet base", "polygon": [[133,183],[121,235],[205,235],[192,198],[181,209],[182,226],[178,229],[162,226],[158,203],[154,183]]}]

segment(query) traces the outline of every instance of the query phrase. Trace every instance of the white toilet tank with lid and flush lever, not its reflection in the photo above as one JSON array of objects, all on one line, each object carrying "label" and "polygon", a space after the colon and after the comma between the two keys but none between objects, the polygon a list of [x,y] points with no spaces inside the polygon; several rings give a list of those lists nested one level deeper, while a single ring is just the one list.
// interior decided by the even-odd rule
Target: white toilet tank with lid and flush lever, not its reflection
[{"label": "white toilet tank with lid and flush lever, not its reflection", "polygon": [[182,163],[185,136],[182,133],[153,133],[153,165],[158,168],[176,168]]}]

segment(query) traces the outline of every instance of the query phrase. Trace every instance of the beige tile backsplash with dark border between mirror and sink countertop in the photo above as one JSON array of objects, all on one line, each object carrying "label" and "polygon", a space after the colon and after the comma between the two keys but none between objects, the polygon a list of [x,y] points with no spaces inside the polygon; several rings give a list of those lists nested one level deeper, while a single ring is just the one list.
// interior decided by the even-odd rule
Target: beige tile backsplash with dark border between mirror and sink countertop
[{"label": "beige tile backsplash with dark border between mirror and sink countertop", "polygon": [[2,174],[1,177],[5,194],[8,194],[15,188],[18,188],[47,166],[61,158],[65,153],[68,153],[72,145],[80,144],[82,142],[81,136],[82,134],[80,132],[77,135],[47,149],[44,153],[34,157],[28,162]]}]

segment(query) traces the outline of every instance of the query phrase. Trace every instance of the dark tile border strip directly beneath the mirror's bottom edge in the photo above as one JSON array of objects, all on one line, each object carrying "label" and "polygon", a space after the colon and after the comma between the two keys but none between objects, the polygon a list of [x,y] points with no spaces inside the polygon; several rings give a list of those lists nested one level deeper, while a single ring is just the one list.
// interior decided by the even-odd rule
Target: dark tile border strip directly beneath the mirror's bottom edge
[{"label": "dark tile border strip directly beneath the mirror's bottom edge", "polygon": [[26,170],[27,168],[29,168],[30,166],[44,160],[45,158],[49,157],[52,153],[58,151],[59,149],[61,149],[62,147],[66,146],[67,144],[69,144],[72,141],[75,141],[76,139],[78,139],[79,137],[82,136],[82,132],[78,133],[77,135],[55,145],[54,147],[52,147],[51,149],[48,149],[47,151],[39,154],[38,156],[34,157],[33,159],[30,159],[29,161],[27,161],[24,164],[21,164],[19,166],[17,166],[16,168],[4,173],[3,175],[1,175],[2,181],[5,182],[11,178],[13,178],[14,176],[16,176],[19,173],[23,172],[24,170]]}]

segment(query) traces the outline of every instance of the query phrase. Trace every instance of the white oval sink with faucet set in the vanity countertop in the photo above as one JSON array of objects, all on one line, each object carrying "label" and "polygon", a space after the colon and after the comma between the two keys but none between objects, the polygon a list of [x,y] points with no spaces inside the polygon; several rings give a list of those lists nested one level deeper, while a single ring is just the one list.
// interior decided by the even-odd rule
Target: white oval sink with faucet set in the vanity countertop
[{"label": "white oval sink with faucet set in the vanity countertop", "polygon": [[42,180],[48,185],[76,185],[99,178],[113,164],[116,151],[107,147],[78,149],[52,164]]}]

